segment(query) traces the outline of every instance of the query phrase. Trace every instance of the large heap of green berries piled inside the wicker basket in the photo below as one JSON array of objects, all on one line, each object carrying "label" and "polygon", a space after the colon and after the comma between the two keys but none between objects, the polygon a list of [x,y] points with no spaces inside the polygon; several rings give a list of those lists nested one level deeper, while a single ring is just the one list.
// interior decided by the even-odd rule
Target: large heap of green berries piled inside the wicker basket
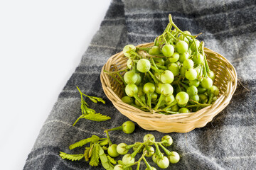
[{"label": "large heap of green berries piled inside the wicker basket", "polygon": [[[190,113],[210,106],[219,94],[213,85],[204,42],[170,23],[152,47],[126,45],[124,103],[151,113]],[[118,72],[119,73],[119,72]]]}]

